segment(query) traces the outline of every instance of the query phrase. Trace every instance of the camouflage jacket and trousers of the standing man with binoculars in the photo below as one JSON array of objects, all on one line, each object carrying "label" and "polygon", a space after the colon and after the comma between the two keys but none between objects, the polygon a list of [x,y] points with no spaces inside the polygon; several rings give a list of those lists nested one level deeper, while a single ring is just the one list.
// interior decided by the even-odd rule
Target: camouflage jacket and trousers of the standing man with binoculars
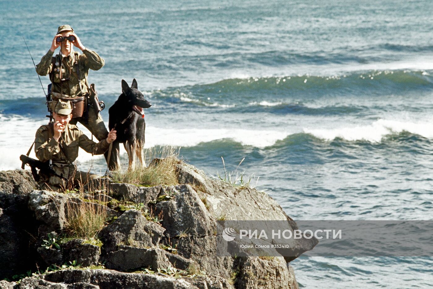
[{"label": "camouflage jacket and trousers of the standing man with binoculars", "polygon": [[[61,53],[54,57],[53,54],[54,52],[48,50],[48,52],[42,57],[41,62],[36,65],[36,72],[39,75],[50,75],[50,80],[52,82],[51,91],[65,94],[64,97],[78,97],[82,96],[82,94],[87,95],[89,93],[89,84],[87,81],[89,69],[98,70],[102,68],[105,64],[103,58],[101,58],[96,52],[87,48],[83,50],[83,54],[76,51],[71,52],[71,55],[65,57],[61,56]],[[76,61],[78,61],[79,78],[81,78],[81,81],[78,79]],[[61,80],[60,75],[62,79],[69,79]],[[88,114],[87,124],[85,123],[84,116],[75,117],[70,123],[76,124],[77,122],[80,122],[97,138],[97,140],[107,138],[107,128],[105,127],[100,114],[95,113],[92,104],[90,104]]]}]

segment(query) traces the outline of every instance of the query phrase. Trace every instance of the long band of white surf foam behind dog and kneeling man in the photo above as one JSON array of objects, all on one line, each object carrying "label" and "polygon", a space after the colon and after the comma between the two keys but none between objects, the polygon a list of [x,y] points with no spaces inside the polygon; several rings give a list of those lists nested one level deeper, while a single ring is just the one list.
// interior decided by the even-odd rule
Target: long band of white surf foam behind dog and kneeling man
[{"label": "long band of white surf foam behind dog and kneeling man", "polygon": [[[45,124],[46,120],[32,121],[25,117],[4,117],[0,115],[0,170],[18,169],[21,166],[19,155],[25,154],[34,140],[37,128]],[[78,124],[88,136],[90,133]],[[380,142],[382,138],[391,133],[407,131],[426,138],[433,138],[433,119],[424,122],[399,121],[379,119],[368,125],[342,125],[341,127],[311,129],[304,128],[304,133],[310,133],[323,140],[343,138],[349,141],[367,140]],[[300,131],[278,130],[247,130],[230,128],[161,128],[146,127],[145,147],[171,145],[171,146],[196,146],[213,140],[231,139],[242,145],[266,147],[274,145],[278,140],[284,140],[292,133]],[[121,154],[124,154],[121,146]],[[35,157],[32,150],[30,157]],[[124,156],[123,156],[124,157]],[[84,163],[91,159],[99,160],[103,156],[91,156],[80,149],[78,162]],[[81,168],[83,170],[87,168]]]}]

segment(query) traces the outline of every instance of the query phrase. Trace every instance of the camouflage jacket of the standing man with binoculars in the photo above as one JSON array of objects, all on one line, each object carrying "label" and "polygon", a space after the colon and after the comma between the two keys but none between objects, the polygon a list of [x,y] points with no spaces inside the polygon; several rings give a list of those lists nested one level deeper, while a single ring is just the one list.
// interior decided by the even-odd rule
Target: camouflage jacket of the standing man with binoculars
[{"label": "camouflage jacket of the standing man with binoculars", "polygon": [[[66,97],[81,96],[81,91],[83,94],[88,93],[87,75],[89,69],[98,70],[105,64],[103,58],[87,48],[83,50],[83,54],[76,51],[66,57],[62,57],[60,54],[53,56],[53,54],[54,52],[48,50],[41,62],[36,65],[36,72],[39,75],[49,74],[52,82],[51,91],[65,94]],[[81,81],[78,79],[77,65]]]}]

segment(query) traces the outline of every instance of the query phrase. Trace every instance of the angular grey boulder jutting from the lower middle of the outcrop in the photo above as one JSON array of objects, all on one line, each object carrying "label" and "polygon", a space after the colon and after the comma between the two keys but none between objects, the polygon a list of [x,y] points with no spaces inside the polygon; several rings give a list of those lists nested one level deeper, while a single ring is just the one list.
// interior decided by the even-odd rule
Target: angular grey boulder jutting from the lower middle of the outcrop
[{"label": "angular grey boulder jutting from the lower middle of the outcrop", "polygon": [[104,227],[99,233],[103,250],[112,252],[118,244],[135,247],[155,247],[165,229],[146,220],[140,211],[125,211],[118,219]]}]

